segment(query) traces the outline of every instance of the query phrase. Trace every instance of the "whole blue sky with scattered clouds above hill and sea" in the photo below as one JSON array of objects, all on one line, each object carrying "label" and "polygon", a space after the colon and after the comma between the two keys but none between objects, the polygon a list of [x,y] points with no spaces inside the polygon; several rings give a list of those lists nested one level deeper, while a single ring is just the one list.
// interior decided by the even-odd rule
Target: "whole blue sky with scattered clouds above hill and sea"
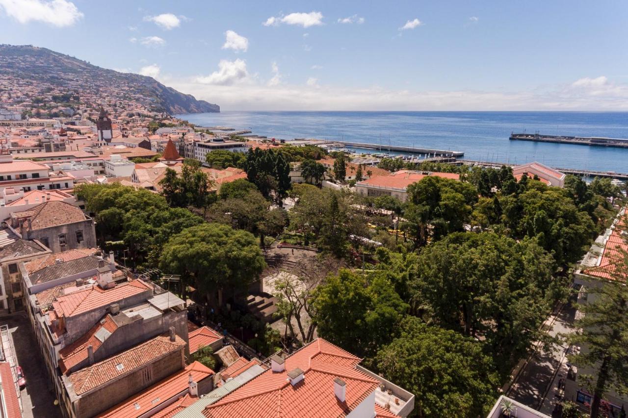
[{"label": "whole blue sky with scattered clouds above hill and sea", "polygon": [[628,110],[628,2],[0,0],[0,42],[231,110]]}]

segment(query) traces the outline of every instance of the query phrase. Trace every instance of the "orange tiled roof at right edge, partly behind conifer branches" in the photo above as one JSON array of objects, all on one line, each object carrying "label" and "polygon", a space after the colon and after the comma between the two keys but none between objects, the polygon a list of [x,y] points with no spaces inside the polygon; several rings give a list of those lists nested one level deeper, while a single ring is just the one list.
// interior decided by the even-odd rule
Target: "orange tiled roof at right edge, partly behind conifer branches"
[{"label": "orange tiled roof at right edge, partly behind conifer branches", "polygon": [[617,271],[617,264],[625,258],[625,252],[628,252],[628,213],[625,214],[604,245],[604,250],[600,257],[600,263],[596,267],[585,269],[588,276],[598,277],[600,279],[613,280],[623,279],[628,283],[628,275]]}]

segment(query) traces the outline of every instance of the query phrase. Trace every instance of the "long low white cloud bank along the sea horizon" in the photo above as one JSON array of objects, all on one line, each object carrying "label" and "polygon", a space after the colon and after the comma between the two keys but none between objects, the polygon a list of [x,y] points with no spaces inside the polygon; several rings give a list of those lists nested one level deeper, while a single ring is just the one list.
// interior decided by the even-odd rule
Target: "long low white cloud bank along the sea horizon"
[{"label": "long low white cloud bank along the sea horizon", "polygon": [[628,84],[610,80],[577,80],[510,92],[392,90],[324,84],[312,88],[306,83],[269,86],[255,80],[208,86],[198,80],[173,79],[170,85],[197,99],[218,103],[222,109],[238,110],[628,110]]}]

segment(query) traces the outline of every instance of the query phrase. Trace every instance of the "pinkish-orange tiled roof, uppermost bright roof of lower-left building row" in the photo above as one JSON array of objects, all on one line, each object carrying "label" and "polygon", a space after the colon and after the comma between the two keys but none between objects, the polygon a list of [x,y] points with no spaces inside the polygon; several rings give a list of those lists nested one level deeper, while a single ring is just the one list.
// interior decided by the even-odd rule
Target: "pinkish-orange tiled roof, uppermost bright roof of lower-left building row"
[{"label": "pinkish-orange tiled roof, uppermost bright roof of lower-left building row", "polygon": [[91,311],[101,306],[107,306],[149,289],[150,287],[140,279],[128,283],[116,284],[116,287],[107,290],[94,285],[87,289],[80,289],[59,296],[57,297],[57,301],[53,302],[52,306],[58,315],[63,314],[63,316],[67,318]]}]

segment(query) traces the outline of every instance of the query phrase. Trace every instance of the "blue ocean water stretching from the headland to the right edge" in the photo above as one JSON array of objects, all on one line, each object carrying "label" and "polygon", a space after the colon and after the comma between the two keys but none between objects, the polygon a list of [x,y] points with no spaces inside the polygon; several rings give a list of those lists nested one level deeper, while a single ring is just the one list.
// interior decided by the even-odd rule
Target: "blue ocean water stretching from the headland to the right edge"
[{"label": "blue ocean water stretching from the headland to the right edge", "polygon": [[240,112],[178,115],[277,139],[463,151],[465,159],[628,173],[628,149],[510,141],[511,132],[628,138],[628,112]]}]

